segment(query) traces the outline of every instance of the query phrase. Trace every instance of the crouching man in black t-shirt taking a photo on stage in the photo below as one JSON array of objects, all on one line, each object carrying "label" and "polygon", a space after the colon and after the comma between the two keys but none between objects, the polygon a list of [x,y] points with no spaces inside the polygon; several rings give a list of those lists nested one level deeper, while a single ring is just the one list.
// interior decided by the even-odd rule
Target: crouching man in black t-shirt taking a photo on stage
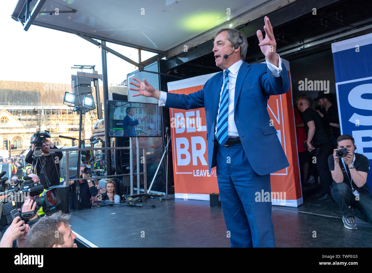
[{"label": "crouching man in black t-shirt taking a photo on stage", "polygon": [[372,196],[366,184],[369,161],[368,158],[355,153],[354,138],[343,134],[337,138],[338,149],[346,148],[347,155],[339,158],[338,149],[328,157],[329,169],[332,173],[331,194],[340,206],[344,226],[356,230],[354,215],[372,224]]}]

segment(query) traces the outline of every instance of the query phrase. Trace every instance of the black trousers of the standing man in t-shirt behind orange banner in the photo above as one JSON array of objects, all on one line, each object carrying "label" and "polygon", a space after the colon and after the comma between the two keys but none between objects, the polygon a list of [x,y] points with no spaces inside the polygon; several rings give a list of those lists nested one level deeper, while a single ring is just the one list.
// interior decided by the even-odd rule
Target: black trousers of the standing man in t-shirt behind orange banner
[{"label": "black trousers of the standing man in t-shirt behind orange banner", "polygon": [[328,156],[332,153],[332,142],[324,143],[318,146],[319,152],[315,150],[317,154],[317,171],[320,177],[320,182],[323,187],[325,194],[331,194],[330,186],[332,184],[330,171],[328,168]]}]

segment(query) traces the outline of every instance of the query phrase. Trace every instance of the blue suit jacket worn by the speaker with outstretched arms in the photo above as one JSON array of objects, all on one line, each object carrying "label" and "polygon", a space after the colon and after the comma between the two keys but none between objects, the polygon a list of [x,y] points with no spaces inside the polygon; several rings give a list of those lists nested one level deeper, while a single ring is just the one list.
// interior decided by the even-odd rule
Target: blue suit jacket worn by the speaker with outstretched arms
[{"label": "blue suit jacket worn by the speaker with outstretched arms", "polygon": [[[235,84],[234,121],[245,155],[259,175],[289,166],[274,126],[270,126],[267,100],[270,95],[284,94],[289,89],[288,72],[282,63],[282,74],[273,77],[266,64],[243,62]],[[167,93],[165,106],[179,109],[205,108],[208,166],[216,166],[215,123],[223,71],[210,78],[202,90],[189,95]]]}]

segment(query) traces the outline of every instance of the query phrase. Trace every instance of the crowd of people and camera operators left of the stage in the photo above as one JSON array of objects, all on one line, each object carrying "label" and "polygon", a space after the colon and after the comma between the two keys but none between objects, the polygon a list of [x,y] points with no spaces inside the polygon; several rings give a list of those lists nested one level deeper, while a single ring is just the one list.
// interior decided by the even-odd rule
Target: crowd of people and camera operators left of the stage
[{"label": "crowd of people and camera operators left of the stage", "polygon": [[[1,158],[0,164],[11,164],[12,179],[11,184],[17,181],[23,181],[25,176],[32,179],[32,182],[39,183],[45,189],[50,186],[66,185],[66,181],[60,178],[59,162],[63,157],[62,152],[49,152],[49,149],[58,149],[46,140],[42,144],[42,156],[40,162],[36,163],[34,168],[31,167],[33,161],[33,151],[35,145],[32,144],[27,155],[17,155],[9,158]],[[58,160],[57,160],[58,157]],[[105,160],[95,162],[93,168],[106,171],[104,166]],[[42,165],[42,166],[41,166]],[[22,168],[23,166],[23,168]],[[80,180],[74,181],[76,176],[68,178],[69,185],[69,203],[70,209],[76,209],[76,185],[80,186],[79,209],[92,208],[97,205],[96,201],[107,201],[109,204],[119,203],[124,192],[124,183],[118,179],[108,180],[105,188],[99,186],[99,179],[85,172],[86,165],[80,165]],[[115,168],[112,168],[115,173]],[[20,187],[20,183],[17,183]],[[99,195],[101,194],[101,195]],[[102,198],[102,196],[106,196]],[[0,247],[76,247],[74,239],[76,235],[71,231],[68,214],[62,214],[56,208],[51,211],[43,211],[44,207],[36,208],[36,196],[26,195],[22,206],[19,208],[20,213],[33,212],[34,215],[28,219],[15,217],[12,222],[3,217],[8,224],[1,222],[1,241]],[[8,202],[7,204],[11,204]],[[5,204],[4,204],[5,205]],[[7,205],[6,205],[7,206]],[[9,206],[8,206],[9,207]],[[4,210],[3,210],[4,211]],[[5,215],[5,214],[4,214]],[[59,236],[55,237],[55,231]]]}]

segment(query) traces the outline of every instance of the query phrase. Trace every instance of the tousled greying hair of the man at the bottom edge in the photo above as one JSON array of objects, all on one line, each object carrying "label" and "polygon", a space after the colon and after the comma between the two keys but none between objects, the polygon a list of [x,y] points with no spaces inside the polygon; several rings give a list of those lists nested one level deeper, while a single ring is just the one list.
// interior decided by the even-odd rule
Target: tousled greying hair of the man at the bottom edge
[{"label": "tousled greying hair of the man at the bottom edge", "polygon": [[[28,232],[26,238],[27,247],[53,247],[54,244],[63,245],[65,243],[63,239],[64,234],[58,231],[58,228],[61,224],[68,227],[70,216],[70,214],[62,214],[61,211],[57,211],[50,216],[42,217]],[[56,231],[58,231],[58,236],[56,236]]]}]

